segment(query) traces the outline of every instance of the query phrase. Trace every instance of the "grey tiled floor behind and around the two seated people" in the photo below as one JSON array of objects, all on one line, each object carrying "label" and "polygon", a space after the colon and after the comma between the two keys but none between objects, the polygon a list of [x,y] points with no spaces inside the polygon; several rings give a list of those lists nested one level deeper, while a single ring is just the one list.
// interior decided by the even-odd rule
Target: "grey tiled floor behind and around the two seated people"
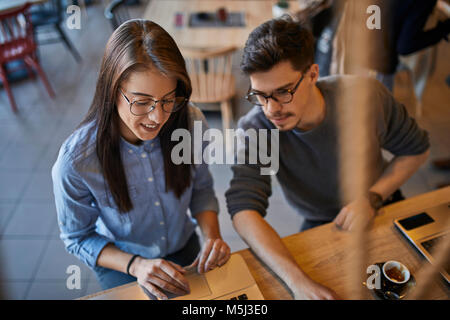
[{"label": "grey tiled floor behind and around the two seated people", "polygon": [[[139,12],[139,8],[133,9]],[[41,47],[41,61],[57,97],[52,100],[40,81],[14,84],[20,113],[11,112],[4,90],[0,91],[0,292],[9,299],[73,299],[100,290],[92,272],[65,252],[59,240],[50,169],[63,140],[80,122],[91,102],[103,48],[110,28],[99,5],[88,8],[81,30],[69,36],[83,56],[78,65],[62,44]],[[444,80],[450,73],[450,47],[439,45],[436,73],[424,95],[420,124],[429,130],[432,157],[450,156],[450,89]],[[240,55],[236,56],[238,66]],[[237,68],[237,67],[236,67]],[[236,112],[248,105],[242,99],[248,80],[236,69]],[[407,74],[397,77],[395,95],[412,110],[414,99]],[[206,114],[211,127],[220,128],[217,113]],[[226,213],[224,192],[231,178],[226,165],[213,165],[215,188],[220,201],[224,239],[233,251],[245,248]],[[404,186],[407,196],[432,190],[438,182],[450,181],[449,173],[433,170],[429,162]],[[276,181],[267,216],[282,236],[297,232],[301,218],[285,204]],[[81,288],[67,289],[67,268],[81,269]]]}]

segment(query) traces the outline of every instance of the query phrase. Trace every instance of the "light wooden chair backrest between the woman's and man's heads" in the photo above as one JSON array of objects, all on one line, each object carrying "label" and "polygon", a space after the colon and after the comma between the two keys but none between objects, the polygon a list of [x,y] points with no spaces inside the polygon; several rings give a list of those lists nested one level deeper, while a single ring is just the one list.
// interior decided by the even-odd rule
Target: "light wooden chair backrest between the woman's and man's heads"
[{"label": "light wooden chair backrest between the woman's and man's heads", "polygon": [[220,49],[181,48],[192,83],[194,102],[219,102],[234,95],[232,56],[236,47]]}]

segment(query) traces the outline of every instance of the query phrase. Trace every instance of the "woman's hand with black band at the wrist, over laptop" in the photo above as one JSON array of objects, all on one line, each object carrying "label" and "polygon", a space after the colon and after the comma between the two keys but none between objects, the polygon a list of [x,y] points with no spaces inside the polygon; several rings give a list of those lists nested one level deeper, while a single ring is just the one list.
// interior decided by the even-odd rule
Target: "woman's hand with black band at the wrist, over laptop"
[{"label": "woman's hand with black band at the wrist, over laptop", "polygon": [[184,277],[186,270],[171,261],[163,259],[144,259],[138,257],[130,267],[130,274],[137,278],[140,285],[159,299],[167,299],[161,291],[166,290],[177,295],[188,294],[189,283]]}]

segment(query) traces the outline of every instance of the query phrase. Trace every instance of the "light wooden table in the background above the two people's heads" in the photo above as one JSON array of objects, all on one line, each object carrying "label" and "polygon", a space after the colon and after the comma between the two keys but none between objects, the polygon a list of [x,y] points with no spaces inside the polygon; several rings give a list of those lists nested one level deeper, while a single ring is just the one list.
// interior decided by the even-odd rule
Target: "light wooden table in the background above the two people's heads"
[{"label": "light wooden table in the background above the two people's heads", "polygon": [[[272,19],[270,0],[153,0],[145,9],[142,18],[149,19],[163,27],[180,47],[213,48],[235,46],[243,48],[250,32],[261,23]],[[290,1],[290,11],[301,9],[299,1]],[[245,27],[191,28],[189,14],[215,12],[224,7],[228,12],[244,12]],[[175,26],[175,14],[183,13],[183,26]]]}]

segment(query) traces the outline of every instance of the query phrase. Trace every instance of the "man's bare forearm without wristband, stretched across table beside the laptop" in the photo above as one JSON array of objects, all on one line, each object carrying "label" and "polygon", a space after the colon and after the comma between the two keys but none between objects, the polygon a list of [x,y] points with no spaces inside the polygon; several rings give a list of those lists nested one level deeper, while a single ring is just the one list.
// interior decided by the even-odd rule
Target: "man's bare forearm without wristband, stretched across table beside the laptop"
[{"label": "man's bare forearm without wristband, stretched across table beside the laptop", "polygon": [[[233,217],[233,225],[242,239],[255,254],[269,266],[285,283],[293,288],[308,279],[287,250],[280,236],[253,210],[238,212]],[[294,295],[296,292],[294,292]]]}]

